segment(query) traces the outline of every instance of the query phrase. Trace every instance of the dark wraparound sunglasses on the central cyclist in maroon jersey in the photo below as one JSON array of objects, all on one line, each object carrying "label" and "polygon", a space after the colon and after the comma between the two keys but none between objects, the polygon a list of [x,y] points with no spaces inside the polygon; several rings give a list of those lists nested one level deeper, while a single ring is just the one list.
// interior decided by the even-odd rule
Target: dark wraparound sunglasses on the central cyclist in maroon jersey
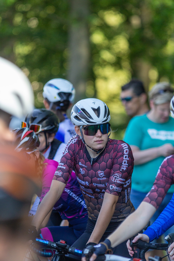
[{"label": "dark wraparound sunglasses on the central cyclist in maroon jersey", "polygon": [[99,124],[99,125],[85,126],[82,128],[84,129],[84,135],[95,136],[96,133],[98,132],[98,129],[100,129],[102,134],[109,133],[111,130],[110,126],[111,126],[110,123],[104,123],[104,124]]}]

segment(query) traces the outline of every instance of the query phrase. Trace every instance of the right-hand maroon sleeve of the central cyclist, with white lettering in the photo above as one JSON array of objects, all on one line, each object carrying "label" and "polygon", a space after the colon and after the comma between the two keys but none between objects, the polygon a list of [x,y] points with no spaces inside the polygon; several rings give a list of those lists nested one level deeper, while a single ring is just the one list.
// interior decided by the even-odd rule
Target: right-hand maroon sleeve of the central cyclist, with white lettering
[{"label": "right-hand maroon sleeve of the central cyclist, with white lettering", "polygon": [[119,195],[122,191],[129,189],[130,193],[133,166],[134,158],[132,150],[127,143],[122,142],[114,157],[106,192]]}]

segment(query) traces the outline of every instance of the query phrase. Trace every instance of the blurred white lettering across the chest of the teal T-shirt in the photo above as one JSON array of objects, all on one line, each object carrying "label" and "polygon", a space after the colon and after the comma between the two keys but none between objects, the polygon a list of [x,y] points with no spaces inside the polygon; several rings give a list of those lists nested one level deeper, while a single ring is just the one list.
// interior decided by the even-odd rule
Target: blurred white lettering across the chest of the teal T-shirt
[{"label": "blurred white lettering across the chest of the teal T-shirt", "polygon": [[174,132],[168,132],[167,130],[157,130],[154,128],[148,128],[147,132],[153,140],[171,140],[174,141]]}]

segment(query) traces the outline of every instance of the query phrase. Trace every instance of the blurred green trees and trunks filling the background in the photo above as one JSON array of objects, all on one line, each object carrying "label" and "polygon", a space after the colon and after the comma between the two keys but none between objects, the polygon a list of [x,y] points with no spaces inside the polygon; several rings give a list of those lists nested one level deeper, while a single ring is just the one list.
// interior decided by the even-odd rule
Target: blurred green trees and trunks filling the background
[{"label": "blurred green trees and trunks filling the background", "polygon": [[75,101],[107,103],[113,137],[122,139],[129,117],[121,86],[131,78],[146,90],[173,83],[173,14],[173,0],[1,0],[0,56],[29,77],[36,107],[48,80],[67,79]]}]

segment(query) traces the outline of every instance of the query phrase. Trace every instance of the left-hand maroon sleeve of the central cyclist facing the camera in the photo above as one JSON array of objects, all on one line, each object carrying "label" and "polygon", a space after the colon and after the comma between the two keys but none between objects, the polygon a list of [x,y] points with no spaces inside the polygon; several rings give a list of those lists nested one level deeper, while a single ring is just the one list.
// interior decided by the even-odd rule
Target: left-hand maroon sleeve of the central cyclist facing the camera
[{"label": "left-hand maroon sleeve of the central cyclist facing the camera", "polygon": [[77,137],[72,137],[65,147],[53,180],[67,184],[69,176],[74,168],[74,155],[76,153]]}]

